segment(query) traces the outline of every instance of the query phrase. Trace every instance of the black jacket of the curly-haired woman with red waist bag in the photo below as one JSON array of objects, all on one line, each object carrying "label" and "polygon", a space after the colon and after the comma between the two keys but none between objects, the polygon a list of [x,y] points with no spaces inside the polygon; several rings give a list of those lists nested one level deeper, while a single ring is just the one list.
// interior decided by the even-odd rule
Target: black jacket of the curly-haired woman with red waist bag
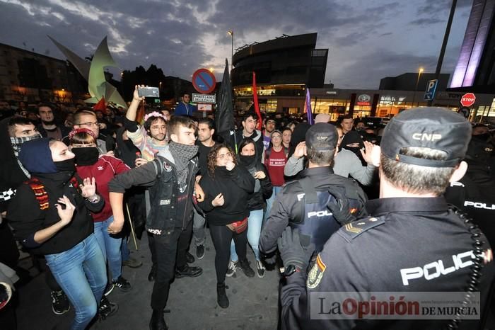
[{"label": "black jacket of the curly-haired woman with red waist bag", "polygon": [[[204,191],[204,201],[198,203],[206,212],[206,220],[209,224],[224,225],[243,220],[248,217],[249,210],[246,200],[255,189],[255,178],[242,165],[236,165],[232,171],[227,171],[225,166],[215,167],[215,176],[209,173],[203,175],[199,186]],[[214,207],[211,202],[219,193],[223,194],[222,206]]]}]

